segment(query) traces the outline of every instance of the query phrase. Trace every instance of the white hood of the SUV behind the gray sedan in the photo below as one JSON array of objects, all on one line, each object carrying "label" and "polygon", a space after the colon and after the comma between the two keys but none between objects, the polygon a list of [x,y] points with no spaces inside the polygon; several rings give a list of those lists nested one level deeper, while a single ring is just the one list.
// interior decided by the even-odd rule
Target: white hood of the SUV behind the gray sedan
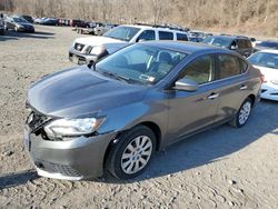
[{"label": "white hood of the SUV behind the gray sedan", "polygon": [[78,38],[75,42],[87,44],[87,46],[100,46],[106,43],[125,43],[125,41],[112,39],[108,37],[87,37],[87,38]]}]

